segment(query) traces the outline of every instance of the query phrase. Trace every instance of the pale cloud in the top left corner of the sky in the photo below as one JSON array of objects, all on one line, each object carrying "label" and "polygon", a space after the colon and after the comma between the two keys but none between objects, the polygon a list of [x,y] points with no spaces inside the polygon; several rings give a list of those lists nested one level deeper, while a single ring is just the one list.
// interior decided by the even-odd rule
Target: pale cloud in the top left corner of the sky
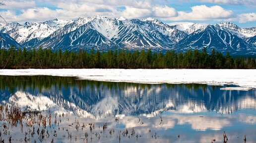
[{"label": "pale cloud in the top left corner of the sky", "polygon": [[2,2],[4,5],[0,9],[26,9],[36,6],[34,0],[6,0]]}]

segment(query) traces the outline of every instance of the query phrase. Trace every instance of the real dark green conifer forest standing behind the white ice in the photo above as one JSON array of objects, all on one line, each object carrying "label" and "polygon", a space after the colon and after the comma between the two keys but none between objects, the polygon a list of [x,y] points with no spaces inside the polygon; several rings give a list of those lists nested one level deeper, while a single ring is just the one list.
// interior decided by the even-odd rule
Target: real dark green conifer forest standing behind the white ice
[{"label": "real dark green conifer forest standing behind the white ice", "polygon": [[233,58],[229,52],[223,55],[213,49],[210,54],[203,48],[176,52],[168,50],[165,53],[149,50],[128,51],[91,49],[84,51],[52,51],[48,48],[0,49],[0,68],[211,68],[211,69],[255,69],[255,58]]}]

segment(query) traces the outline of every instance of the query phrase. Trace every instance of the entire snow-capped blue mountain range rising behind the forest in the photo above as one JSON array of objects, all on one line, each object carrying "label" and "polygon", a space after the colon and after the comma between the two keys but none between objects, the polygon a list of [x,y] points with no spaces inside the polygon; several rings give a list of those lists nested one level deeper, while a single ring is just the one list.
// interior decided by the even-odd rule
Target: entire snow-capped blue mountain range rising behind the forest
[{"label": "entire snow-capped blue mountain range rising behind the forest", "polygon": [[168,25],[153,18],[126,19],[104,16],[77,20],[0,25],[1,48],[51,48],[76,51],[114,48],[152,51],[213,48],[233,55],[256,54],[256,27],[240,28],[230,22],[215,25]]}]

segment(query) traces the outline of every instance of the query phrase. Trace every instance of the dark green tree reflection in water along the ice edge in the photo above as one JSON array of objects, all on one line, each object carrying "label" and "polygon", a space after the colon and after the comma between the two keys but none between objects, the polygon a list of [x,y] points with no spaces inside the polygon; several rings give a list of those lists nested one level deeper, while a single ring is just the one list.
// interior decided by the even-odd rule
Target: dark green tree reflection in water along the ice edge
[{"label": "dark green tree reflection in water along the ice edge", "polygon": [[[158,85],[152,84],[139,84],[139,83],[126,83],[126,82],[101,82],[90,80],[77,80],[77,77],[60,77],[60,76],[0,76],[0,91],[8,90],[11,95],[17,91],[26,91],[29,89],[33,92],[41,92],[44,90],[67,90],[70,88],[79,87],[80,89],[90,88],[94,89],[128,89],[136,87],[139,89],[151,89]],[[186,87],[187,89],[207,88],[206,84],[164,84],[168,89],[176,87]],[[215,86],[211,86],[212,89]]]}]

